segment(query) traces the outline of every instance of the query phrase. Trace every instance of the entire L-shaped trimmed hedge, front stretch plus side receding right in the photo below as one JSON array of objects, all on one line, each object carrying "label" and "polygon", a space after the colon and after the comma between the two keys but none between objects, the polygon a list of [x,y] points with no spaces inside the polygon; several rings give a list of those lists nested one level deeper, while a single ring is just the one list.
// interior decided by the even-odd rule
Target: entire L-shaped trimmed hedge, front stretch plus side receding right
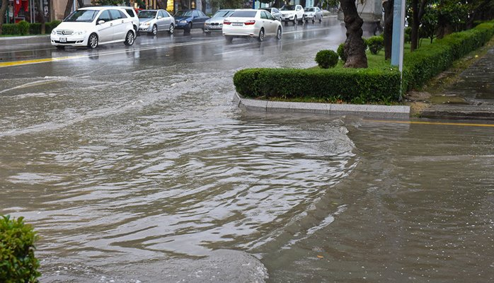
[{"label": "entire L-shaped trimmed hedge, front stretch plus side receding right", "polygon": [[[494,23],[482,23],[407,53],[403,59],[403,90],[422,87],[493,35]],[[400,74],[396,69],[244,69],[234,75],[234,85],[246,98],[389,103],[400,98]]]}]

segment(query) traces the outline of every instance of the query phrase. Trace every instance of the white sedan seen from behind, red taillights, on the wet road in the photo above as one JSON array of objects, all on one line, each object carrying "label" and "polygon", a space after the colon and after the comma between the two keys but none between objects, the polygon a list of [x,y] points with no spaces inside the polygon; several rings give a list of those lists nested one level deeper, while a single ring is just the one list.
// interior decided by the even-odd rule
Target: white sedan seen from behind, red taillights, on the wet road
[{"label": "white sedan seen from behind, red taillights, on the wet road", "polygon": [[257,37],[262,42],[265,36],[281,39],[282,25],[265,10],[236,10],[223,20],[223,35],[227,42],[234,37]]}]

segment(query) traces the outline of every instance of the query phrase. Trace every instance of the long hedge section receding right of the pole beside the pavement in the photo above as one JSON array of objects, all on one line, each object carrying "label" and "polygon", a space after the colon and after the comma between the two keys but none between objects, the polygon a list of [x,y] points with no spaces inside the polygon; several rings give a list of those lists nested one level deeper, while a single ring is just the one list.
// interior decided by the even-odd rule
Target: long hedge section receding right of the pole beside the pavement
[{"label": "long hedge section receding right of the pole beside the pavement", "polygon": [[476,28],[452,33],[432,45],[405,54],[403,59],[403,89],[420,88],[430,79],[447,70],[453,62],[483,46],[494,35],[494,23],[482,23]]}]

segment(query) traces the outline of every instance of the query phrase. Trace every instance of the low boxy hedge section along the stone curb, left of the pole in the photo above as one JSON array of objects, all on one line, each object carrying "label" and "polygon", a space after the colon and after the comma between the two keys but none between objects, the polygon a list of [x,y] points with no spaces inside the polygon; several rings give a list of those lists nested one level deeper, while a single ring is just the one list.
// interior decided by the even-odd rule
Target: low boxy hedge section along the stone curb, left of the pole
[{"label": "low boxy hedge section along the stone curb, left of the pole", "polygon": [[316,98],[349,103],[398,100],[397,69],[243,69],[236,91],[247,98]]}]

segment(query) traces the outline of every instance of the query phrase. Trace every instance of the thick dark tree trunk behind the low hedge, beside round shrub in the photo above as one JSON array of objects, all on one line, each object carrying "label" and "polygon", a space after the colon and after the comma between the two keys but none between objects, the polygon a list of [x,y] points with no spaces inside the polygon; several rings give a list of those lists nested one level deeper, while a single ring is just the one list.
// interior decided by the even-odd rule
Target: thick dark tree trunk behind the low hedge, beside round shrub
[{"label": "thick dark tree trunk behind the low hedge, beside round shrub", "polygon": [[357,12],[355,0],[341,0],[340,4],[345,16],[345,28],[347,29],[347,40],[345,41],[347,62],[345,62],[344,67],[367,68],[367,56],[365,55],[364,40],[362,39],[364,21]]}]

